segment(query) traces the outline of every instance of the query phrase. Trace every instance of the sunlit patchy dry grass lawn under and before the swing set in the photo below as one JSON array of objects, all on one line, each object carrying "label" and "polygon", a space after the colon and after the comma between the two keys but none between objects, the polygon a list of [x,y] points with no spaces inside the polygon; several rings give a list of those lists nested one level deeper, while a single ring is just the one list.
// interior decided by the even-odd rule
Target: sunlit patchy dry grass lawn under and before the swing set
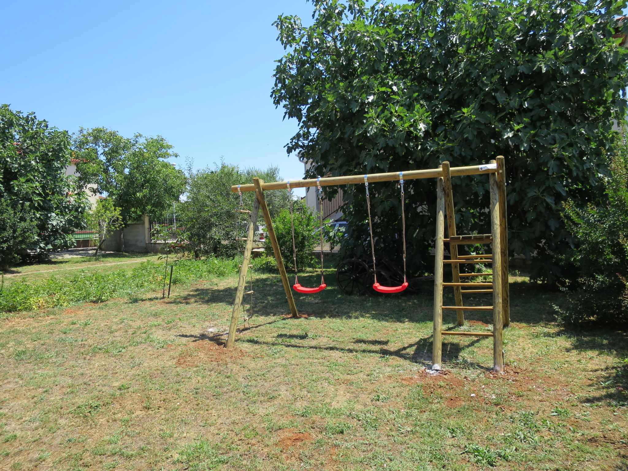
[{"label": "sunlit patchy dry grass lawn under and before the swing set", "polygon": [[3,320],[0,469],[628,469],[626,335],[556,327],[558,293],[511,278],[506,374],[491,338],[448,337],[430,376],[431,295],[332,281],[296,294],[291,319],[278,276],[260,275],[226,350],[236,281]]}]

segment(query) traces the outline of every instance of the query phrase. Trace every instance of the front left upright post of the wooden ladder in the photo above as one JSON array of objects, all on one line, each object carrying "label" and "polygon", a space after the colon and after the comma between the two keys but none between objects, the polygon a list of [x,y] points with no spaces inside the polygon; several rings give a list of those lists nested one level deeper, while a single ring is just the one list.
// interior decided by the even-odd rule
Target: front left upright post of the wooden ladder
[{"label": "front left upright post of the wooden ladder", "polygon": [[440,370],[443,352],[443,253],[445,252],[445,192],[443,178],[436,183],[436,261],[434,265],[434,332],[432,335],[432,369]]}]

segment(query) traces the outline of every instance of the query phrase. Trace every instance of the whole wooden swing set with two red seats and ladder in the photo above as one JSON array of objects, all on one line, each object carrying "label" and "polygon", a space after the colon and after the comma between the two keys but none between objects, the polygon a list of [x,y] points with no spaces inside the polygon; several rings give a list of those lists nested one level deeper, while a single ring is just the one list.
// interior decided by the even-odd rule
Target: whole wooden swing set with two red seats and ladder
[{"label": "whole wooden swing set with two red seats and ladder", "polygon": [[[455,212],[453,205],[452,177],[463,175],[483,175],[489,174],[490,187],[490,234],[473,234],[459,236],[456,232]],[[253,178],[252,185],[234,185],[231,191],[234,193],[255,192],[256,198],[251,208],[249,224],[247,226],[246,246],[244,247],[244,257],[240,269],[240,278],[236,291],[236,301],[231,315],[229,335],[225,347],[231,348],[236,340],[237,323],[242,309],[242,297],[246,285],[251,252],[253,249],[253,237],[257,225],[257,215],[261,208],[266,222],[266,232],[273,246],[274,257],[277,261],[281,282],[290,311],[293,317],[298,317],[295,299],[292,295],[288,274],[281,258],[279,244],[273,229],[273,221],[264,199],[264,192],[268,190],[291,190],[292,188],[318,187],[318,197],[321,198],[321,187],[332,185],[348,185],[351,183],[364,183],[367,193],[367,203],[369,211],[369,233],[371,234],[371,248],[373,264],[375,264],[375,251],[372,237],[371,208],[369,198],[369,183],[376,181],[399,181],[401,184],[401,203],[404,207],[404,180],[416,180],[419,178],[436,178],[436,237],[435,237],[435,271],[434,271],[434,320],[433,320],[433,347],[431,368],[441,369],[442,342],[443,335],[463,335],[468,337],[493,337],[493,370],[495,372],[504,371],[504,350],[503,350],[503,328],[510,324],[509,289],[508,289],[508,241],[506,225],[506,174],[504,169],[504,157],[499,156],[496,160],[491,160],[489,164],[474,165],[465,167],[450,168],[448,162],[443,162],[438,168],[430,170],[412,170],[404,172],[374,173],[371,175],[352,176],[331,176],[327,178],[313,178],[311,180],[276,181],[264,183],[259,178]],[[248,211],[246,211],[248,212]],[[445,237],[445,217],[447,217],[447,237]],[[374,289],[383,293],[398,293],[407,286],[405,265],[406,265],[406,236],[405,236],[405,214],[403,222],[403,261],[404,261],[404,283],[401,286],[381,286],[374,279]],[[445,244],[449,247],[449,259],[445,259]],[[458,255],[459,245],[490,244],[492,254],[484,255]],[[322,249],[322,247],[321,247]],[[322,254],[321,254],[322,256]],[[321,259],[322,260],[322,259]],[[460,266],[465,264],[492,264],[490,273],[462,273]],[[450,265],[452,268],[452,281],[443,282],[443,268]],[[373,270],[375,271],[375,270]],[[474,283],[473,278],[479,276],[490,276],[492,282]],[[462,280],[467,281],[462,281]],[[318,288],[303,288],[298,281],[295,281],[295,291],[300,293],[317,293],[324,289],[324,281]],[[378,289],[379,288],[379,289]],[[443,306],[443,288],[453,288],[453,306]],[[463,289],[467,288],[467,289]],[[463,305],[464,294],[492,293],[492,306],[465,306]],[[443,330],[443,311],[454,310],[457,314],[457,326],[464,325],[464,311],[492,311],[493,331],[492,332],[465,332],[462,330]]]}]

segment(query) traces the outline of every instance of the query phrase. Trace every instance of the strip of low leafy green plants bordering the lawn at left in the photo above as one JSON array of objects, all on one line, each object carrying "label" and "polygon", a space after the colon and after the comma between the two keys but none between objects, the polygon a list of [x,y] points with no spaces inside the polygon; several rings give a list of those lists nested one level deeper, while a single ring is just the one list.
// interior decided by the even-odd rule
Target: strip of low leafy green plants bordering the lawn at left
[{"label": "strip of low leafy green plants bordering the lawn at left", "polygon": [[[215,257],[178,260],[173,265],[173,284],[187,284],[237,271],[234,260]],[[163,276],[163,264],[148,261],[136,268],[112,273],[82,270],[68,278],[51,276],[38,281],[23,278],[0,292],[0,313],[68,306],[82,301],[102,303],[114,297],[159,289],[163,285]]]}]

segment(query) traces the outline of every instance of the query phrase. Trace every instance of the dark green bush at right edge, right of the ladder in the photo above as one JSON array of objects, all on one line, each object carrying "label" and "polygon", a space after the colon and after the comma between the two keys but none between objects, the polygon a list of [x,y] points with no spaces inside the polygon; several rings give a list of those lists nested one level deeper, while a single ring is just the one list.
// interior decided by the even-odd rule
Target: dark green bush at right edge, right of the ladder
[{"label": "dark green bush at right edge, right of the ladder", "polygon": [[578,278],[566,283],[564,306],[556,306],[563,325],[628,325],[628,149],[625,136],[612,158],[606,205],[581,210],[565,204],[566,227],[579,245],[571,254]]}]

